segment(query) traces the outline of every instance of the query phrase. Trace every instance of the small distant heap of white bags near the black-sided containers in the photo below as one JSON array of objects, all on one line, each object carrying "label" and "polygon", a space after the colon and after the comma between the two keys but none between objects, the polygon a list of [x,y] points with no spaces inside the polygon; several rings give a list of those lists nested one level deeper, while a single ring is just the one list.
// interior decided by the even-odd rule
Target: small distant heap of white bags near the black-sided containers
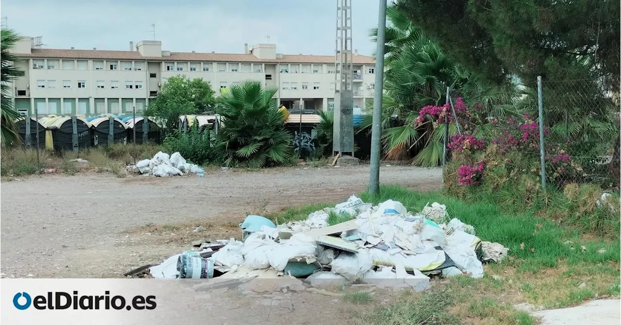
[{"label": "small distant heap of white bags near the black-sided containers", "polygon": [[172,155],[168,155],[165,152],[156,153],[153,158],[140,160],[136,165],[130,165],[127,167],[132,172],[140,173],[142,175],[149,176],[177,176],[184,173],[194,173],[199,176],[205,173],[198,165],[186,162],[185,158],[181,156],[181,153],[175,152]]}]

